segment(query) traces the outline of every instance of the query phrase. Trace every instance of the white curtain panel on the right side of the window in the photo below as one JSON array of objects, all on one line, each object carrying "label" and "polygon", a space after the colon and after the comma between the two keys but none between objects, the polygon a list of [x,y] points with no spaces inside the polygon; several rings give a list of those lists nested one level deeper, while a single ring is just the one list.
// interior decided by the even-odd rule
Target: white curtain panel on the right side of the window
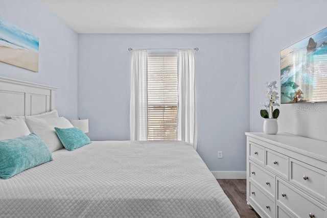
[{"label": "white curtain panel on the right side of the window", "polygon": [[178,126],[177,139],[197,147],[195,100],[195,63],[193,49],[178,50]]}]

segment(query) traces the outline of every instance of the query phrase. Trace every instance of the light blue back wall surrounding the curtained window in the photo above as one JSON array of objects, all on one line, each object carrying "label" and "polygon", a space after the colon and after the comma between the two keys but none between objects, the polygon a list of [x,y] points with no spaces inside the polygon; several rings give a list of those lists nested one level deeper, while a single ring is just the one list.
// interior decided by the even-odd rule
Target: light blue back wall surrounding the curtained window
[{"label": "light blue back wall surrounding the curtained window", "polygon": [[78,115],[92,140],[129,140],[128,47],[199,47],[198,152],[212,171],[245,171],[249,34],[79,34]]}]

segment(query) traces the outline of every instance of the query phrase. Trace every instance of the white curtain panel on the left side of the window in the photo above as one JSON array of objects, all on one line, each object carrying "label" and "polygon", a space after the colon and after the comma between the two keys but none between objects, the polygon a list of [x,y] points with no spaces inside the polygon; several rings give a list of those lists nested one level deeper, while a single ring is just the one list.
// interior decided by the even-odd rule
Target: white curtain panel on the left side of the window
[{"label": "white curtain panel on the left side of the window", "polygon": [[130,140],[148,139],[147,70],[147,50],[133,50],[131,62]]}]

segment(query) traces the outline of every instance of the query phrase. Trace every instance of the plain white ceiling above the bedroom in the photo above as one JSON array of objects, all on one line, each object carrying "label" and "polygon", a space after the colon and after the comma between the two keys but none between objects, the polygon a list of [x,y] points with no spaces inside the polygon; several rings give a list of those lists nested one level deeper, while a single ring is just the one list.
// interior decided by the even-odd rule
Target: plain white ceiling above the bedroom
[{"label": "plain white ceiling above the bedroom", "polygon": [[250,33],[282,0],[39,0],[77,33]]}]

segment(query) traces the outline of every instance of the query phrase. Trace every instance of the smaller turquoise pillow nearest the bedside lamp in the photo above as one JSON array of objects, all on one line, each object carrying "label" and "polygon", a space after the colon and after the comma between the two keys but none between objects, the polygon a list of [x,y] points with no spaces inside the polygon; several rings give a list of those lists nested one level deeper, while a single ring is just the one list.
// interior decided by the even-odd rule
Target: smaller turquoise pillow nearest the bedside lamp
[{"label": "smaller turquoise pillow nearest the bedside lamp", "polygon": [[63,144],[63,147],[68,151],[74,151],[75,149],[85,146],[85,144],[91,143],[89,137],[87,137],[82,130],[76,127],[67,129],[55,127],[55,131]]}]

